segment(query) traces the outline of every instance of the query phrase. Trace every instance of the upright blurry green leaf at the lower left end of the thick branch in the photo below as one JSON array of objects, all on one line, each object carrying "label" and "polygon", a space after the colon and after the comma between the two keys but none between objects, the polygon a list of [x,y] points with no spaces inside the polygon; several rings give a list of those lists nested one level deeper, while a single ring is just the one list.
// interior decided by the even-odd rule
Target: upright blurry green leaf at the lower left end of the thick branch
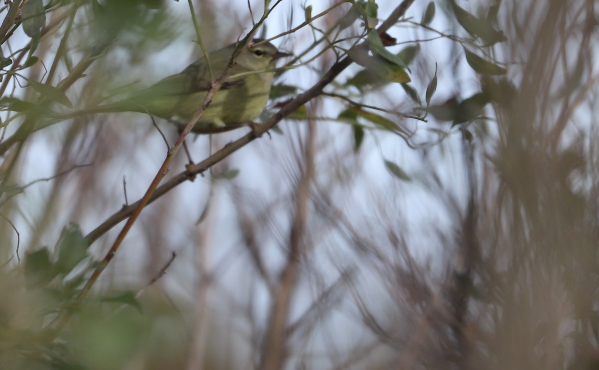
[{"label": "upright blurry green leaf at the lower left end of the thick branch", "polygon": [[89,244],[79,226],[71,224],[63,228],[55,249],[58,251],[58,261],[56,261],[58,272],[63,275],[71,272],[77,263],[87,257],[87,248]]}]

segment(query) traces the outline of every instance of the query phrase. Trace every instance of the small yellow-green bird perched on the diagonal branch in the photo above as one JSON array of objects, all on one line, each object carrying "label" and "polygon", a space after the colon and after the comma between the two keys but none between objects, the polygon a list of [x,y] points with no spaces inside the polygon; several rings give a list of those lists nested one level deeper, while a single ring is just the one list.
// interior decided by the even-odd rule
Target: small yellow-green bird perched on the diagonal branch
[{"label": "small yellow-green bird perched on the diagonal branch", "polygon": [[[75,116],[87,113],[140,112],[186,124],[198,110],[216,79],[225,71],[236,44],[208,53],[179,74],[165,77],[153,86],[134,93],[122,101],[87,108]],[[254,39],[229,69],[229,80],[213,95],[212,101],[193,126],[196,134],[229,131],[253,122],[268,101],[278,59],[292,54],[283,53],[261,39]],[[212,76],[208,70],[208,63]]]}]

